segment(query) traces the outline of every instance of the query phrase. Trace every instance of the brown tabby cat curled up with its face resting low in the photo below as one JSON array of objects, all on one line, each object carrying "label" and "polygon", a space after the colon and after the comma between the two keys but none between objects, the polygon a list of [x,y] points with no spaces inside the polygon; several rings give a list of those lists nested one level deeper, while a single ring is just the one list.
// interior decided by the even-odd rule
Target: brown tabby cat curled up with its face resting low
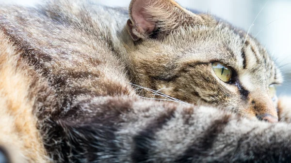
[{"label": "brown tabby cat curled up with its face resting low", "polygon": [[274,60],[173,0],[2,5],[0,76],[0,163],[291,162]]}]

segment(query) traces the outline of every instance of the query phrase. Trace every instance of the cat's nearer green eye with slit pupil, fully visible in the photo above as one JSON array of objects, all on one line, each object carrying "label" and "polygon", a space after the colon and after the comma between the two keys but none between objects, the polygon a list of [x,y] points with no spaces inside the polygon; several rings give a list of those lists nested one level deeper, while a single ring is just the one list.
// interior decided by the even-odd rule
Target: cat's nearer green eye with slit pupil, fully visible
[{"label": "cat's nearer green eye with slit pupil, fully visible", "polygon": [[232,71],[230,67],[226,66],[226,64],[221,62],[212,63],[212,68],[218,78],[224,82],[230,82],[232,77]]}]

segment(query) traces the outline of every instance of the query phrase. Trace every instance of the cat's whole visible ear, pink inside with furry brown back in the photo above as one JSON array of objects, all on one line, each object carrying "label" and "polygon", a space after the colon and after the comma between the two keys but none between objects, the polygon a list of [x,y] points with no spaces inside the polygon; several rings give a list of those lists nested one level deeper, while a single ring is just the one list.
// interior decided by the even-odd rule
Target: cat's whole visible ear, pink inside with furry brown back
[{"label": "cat's whole visible ear, pink inside with furry brown back", "polygon": [[171,30],[194,14],[174,0],[131,0],[127,27],[134,41],[148,38],[157,29]]}]

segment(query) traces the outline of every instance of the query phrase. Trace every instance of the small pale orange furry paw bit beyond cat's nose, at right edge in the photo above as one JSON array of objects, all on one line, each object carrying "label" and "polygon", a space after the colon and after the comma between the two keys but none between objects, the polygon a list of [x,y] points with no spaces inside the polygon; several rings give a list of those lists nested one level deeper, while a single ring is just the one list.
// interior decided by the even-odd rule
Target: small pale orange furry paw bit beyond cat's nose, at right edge
[{"label": "small pale orange furry paw bit beyond cat's nose, at right edge", "polygon": [[291,123],[291,97],[280,97],[277,109],[279,121]]}]

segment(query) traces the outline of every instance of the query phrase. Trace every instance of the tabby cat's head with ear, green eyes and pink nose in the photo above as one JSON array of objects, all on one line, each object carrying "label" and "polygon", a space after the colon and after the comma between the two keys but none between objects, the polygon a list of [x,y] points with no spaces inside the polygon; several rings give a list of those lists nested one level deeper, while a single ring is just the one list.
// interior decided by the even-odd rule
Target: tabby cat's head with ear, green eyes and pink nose
[{"label": "tabby cat's head with ear, green eyes and pink nose", "polygon": [[275,85],[282,83],[281,73],[245,31],[173,0],[132,0],[129,17],[126,46],[134,84],[188,103],[277,121]]}]

